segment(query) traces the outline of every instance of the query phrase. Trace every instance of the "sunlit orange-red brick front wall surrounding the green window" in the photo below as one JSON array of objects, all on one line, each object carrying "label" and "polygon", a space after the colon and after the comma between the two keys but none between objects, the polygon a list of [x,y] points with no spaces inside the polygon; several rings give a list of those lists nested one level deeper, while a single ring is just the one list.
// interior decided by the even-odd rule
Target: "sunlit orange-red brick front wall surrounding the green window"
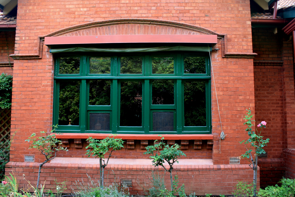
[{"label": "sunlit orange-red brick front wall surrounding the green window", "polygon": [[[238,157],[245,152],[245,146],[238,143],[248,138],[243,126],[243,115],[248,108],[251,108],[253,114],[255,113],[253,60],[243,55],[243,53],[252,53],[249,0],[221,0],[210,3],[199,3],[194,0],[185,3],[180,1],[159,3],[159,1],[145,0],[136,2],[128,0],[124,3],[118,0],[111,3],[100,0],[19,0],[17,18],[15,53],[27,54],[27,56],[37,53],[38,36],[89,21],[107,19],[148,18],[167,20],[167,24],[176,21],[201,26],[219,34],[227,34],[228,52],[238,53],[237,56],[240,58],[223,58],[221,50],[211,53],[212,76],[214,71],[214,81],[213,79],[211,81],[213,150],[202,148],[201,150],[188,149],[185,152],[190,153],[191,158],[212,158],[214,165],[228,165],[229,157]],[[164,30],[165,27],[163,27]],[[221,42],[217,48],[222,48]],[[45,45],[42,58],[26,57],[14,60],[12,133],[15,136],[11,145],[11,162],[24,162],[24,154],[35,154],[36,162],[42,161],[40,153],[34,149],[28,149],[29,143],[24,140],[33,132],[50,131],[53,118],[53,64],[53,56]],[[221,127],[215,86],[222,129],[227,135],[220,143]],[[219,153],[219,145],[221,153]],[[128,154],[132,152],[136,151],[130,151]],[[82,157],[84,153],[85,150],[78,151],[74,148],[69,152],[69,154],[77,154],[77,157]],[[245,164],[246,161],[243,160],[241,163]],[[235,167],[240,169],[235,170],[235,173],[244,173],[242,176],[249,178],[252,172],[241,171],[241,166],[243,165]],[[208,170],[206,173],[211,172]],[[212,173],[215,175],[214,173],[219,171]],[[197,177],[195,181],[207,180],[202,176]],[[220,191],[222,189],[232,191],[232,186],[236,183],[236,180],[230,177],[221,181],[223,184],[218,185]],[[195,185],[198,186],[198,184]],[[214,189],[213,185],[208,187]]]}]

